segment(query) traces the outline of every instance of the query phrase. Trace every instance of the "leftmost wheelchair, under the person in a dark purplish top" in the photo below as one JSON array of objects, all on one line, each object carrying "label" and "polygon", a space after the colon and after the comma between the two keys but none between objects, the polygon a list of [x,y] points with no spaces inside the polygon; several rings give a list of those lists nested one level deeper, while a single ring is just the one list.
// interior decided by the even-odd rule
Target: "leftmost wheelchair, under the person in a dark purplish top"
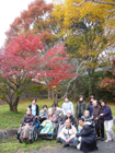
[{"label": "leftmost wheelchair, under the person in a dark purplish top", "polygon": [[18,140],[20,143],[23,141],[33,143],[38,138],[38,128],[36,126],[32,126],[32,129],[28,134],[28,139],[23,139],[23,125],[20,126],[18,130]]}]

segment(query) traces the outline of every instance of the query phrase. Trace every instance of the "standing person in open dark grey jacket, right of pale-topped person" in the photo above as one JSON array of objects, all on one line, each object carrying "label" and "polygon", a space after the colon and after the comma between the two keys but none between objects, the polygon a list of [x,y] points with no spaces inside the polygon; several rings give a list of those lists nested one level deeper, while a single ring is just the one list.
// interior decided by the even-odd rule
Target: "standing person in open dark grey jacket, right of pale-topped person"
[{"label": "standing person in open dark grey jacket, right of pale-topped person", "polygon": [[76,117],[79,119],[84,115],[84,110],[87,110],[87,103],[84,102],[83,95],[79,96],[79,102],[76,107]]}]

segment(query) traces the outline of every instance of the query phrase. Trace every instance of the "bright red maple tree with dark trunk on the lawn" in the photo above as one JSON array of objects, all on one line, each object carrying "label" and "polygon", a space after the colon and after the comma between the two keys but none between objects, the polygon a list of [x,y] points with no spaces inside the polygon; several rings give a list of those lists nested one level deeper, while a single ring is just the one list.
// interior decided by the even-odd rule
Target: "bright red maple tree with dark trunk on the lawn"
[{"label": "bright red maple tree with dark trunk on the lawn", "polygon": [[32,79],[44,80],[51,89],[76,75],[64,45],[57,45],[47,52],[44,49],[38,35],[28,35],[13,38],[0,52],[0,96],[11,111],[18,111],[20,96]]}]

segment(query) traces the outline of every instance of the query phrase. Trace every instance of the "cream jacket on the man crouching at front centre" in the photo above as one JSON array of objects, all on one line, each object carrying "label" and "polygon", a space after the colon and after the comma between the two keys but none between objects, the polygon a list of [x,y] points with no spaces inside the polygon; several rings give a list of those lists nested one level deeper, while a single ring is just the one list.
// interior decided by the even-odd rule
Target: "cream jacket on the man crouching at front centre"
[{"label": "cream jacket on the man crouching at front centre", "polygon": [[69,137],[69,139],[76,138],[77,129],[73,126],[70,126],[70,128],[67,128],[66,126],[62,128],[60,133],[58,134],[58,138],[61,138],[62,140],[66,140],[66,137]]}]

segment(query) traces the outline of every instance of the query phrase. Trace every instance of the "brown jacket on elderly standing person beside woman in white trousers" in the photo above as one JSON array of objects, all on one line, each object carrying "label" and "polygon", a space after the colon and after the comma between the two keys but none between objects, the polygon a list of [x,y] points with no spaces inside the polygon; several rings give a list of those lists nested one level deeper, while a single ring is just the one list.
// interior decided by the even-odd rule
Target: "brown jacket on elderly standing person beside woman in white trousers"
[{"label": "brown jacket on elderly standing person beside woman in white trousers", "polygon": [[[100,105],[97,105],[96,107],[93,106],[93,120],[94,123],[97,123],[97,120],[101,121],[101,123],[103,123],[103,117],[100,117],[100,114],[102,114],[102,107]],[[97,120],[95,120],[95,118],[97,117]]]}]

